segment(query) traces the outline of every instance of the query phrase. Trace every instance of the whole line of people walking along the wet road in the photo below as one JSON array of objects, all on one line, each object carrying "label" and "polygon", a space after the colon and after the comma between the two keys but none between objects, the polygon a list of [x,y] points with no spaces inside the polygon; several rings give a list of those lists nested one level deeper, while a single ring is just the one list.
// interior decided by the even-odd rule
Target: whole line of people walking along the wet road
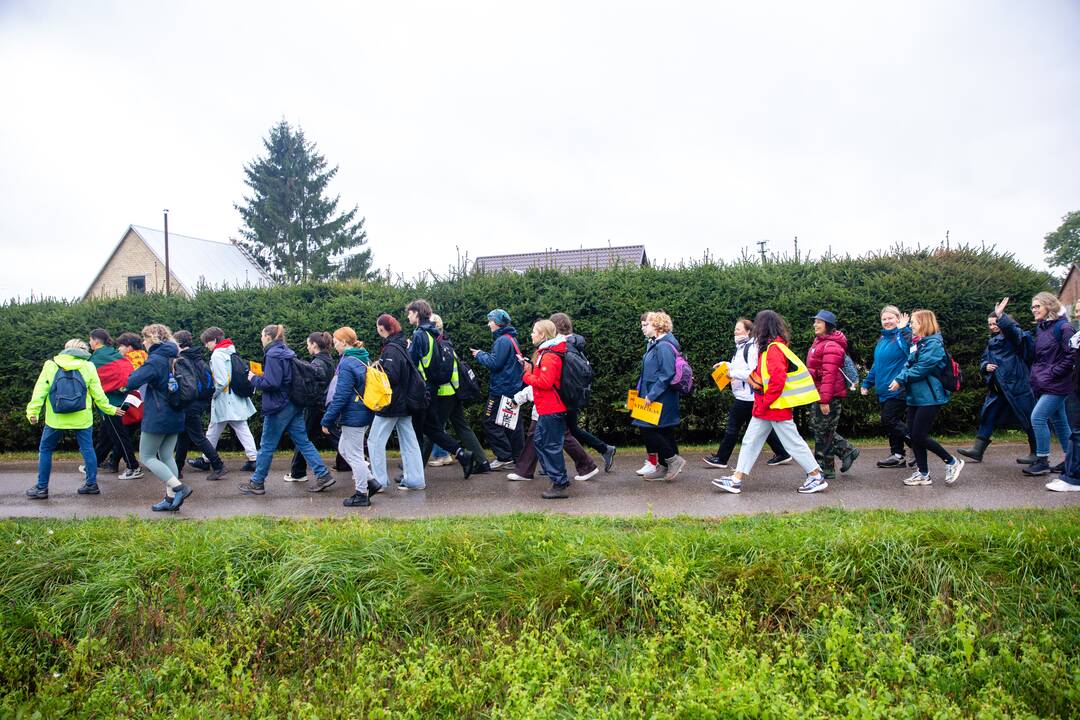
[{"label": "whole line of people walking along the wet road", "polygon": [[[1072,326],[1057,299],[1041,293],[1031,302],[1035,335],[1021,329],[1005,313],[1002,300],[988,316],[990,339],[980,370],[988,393],[980,417],[975,445],[954,456],[931,437],[941,408],[959,388],[959,372],[942,340],[937,318],[930,310],[910,316],[894,305],[881,310],[880,337],[865,378],[849,355],[848,340],[838,329],[836,314],[816,313],[810,322],[814,340],[806,359],[789,347],[791,330],[784,317],[771,310],[734,326],[734,353],[724,367],[733,399],[727,427],[715,454],[704,458],[713,467],[729,470],[735,445],[738,462],[730,474],[712,481],[729,493],[740,493],[765,444],[769,465],[797,463],[805,473],[801,493],[825,490],[836,473],[848,473],[860,451],[836,431],[849,392],[874,392],[890,454],[877,462],[882,468],[913,467],[908,486],[933,483],[929,454],[944,463],[944,480],[954,485],[964,459],[980,462],[994,431],[1012,419],[1028,432],[1030,454],[1017,459],[1023,473],[1061,475],[1047,484],[1051,490],[1080,490],[1080,458],[1069,448],[1080,433],[1080,418],[1070,423],[1067,406],[1078,389],[1074,362],[1077,342]],[[569,497],[571,485],[564,451],[575,462],[575,479],[589,480],[610,472],[616,447],[580,425],[588,403],[592,368],[585,341],[573,331],[565,313],[534,323],[528,347],[522,349],[510,315],[501,309],[487,314],[492,336],[489,351],[471,348],[471,361],[488,370],[484,393],[470,365],[459,354],[427,300],[405,308],[410,336],[389,313],[376,321],[380,338],[377,359],[343,326],[333,334],[312,332],[306,339],[307,358],[286,342],[285,328],[268,325],[261,331],[264,358],[249,364],[240,357],[221,328],[204,329],[195,343],[190,331],[173,332],[161,324],[141,334],[124,332],[116,340],[102,328],[89,342],[69,340],[46,361],[35,384],[27,418],[44,431],[39,447],[38,481],[27,497],[49,497],[52,456],[64,432],[73,432],[83,457],[80,494],[100,492],[100,471],[120,473],[121,479],[143,477],[145,470],[164,486],[164,497],[152,505],[158,512],[179,510],[192,487],[184,471],[204,471],[207,480],[229,472],[216,450],[224,431],[231,429],[243,446],[251,473],[238,490],[246,495],[266,493],[273,453],[285,434],[295,453],[285,481],[308,483],[321,492],[335,477],[315,446],[334,448],[334,468],[350,472],[353,494],[345,505],[363,507],[391,483],[400,490],[422,490],[424,467],[456,462],[462,476],[511,470],[508,480],[531,479],[538,465],[549,481],[545,499]],[[677,429],[680,399],[692,389],[692,370],[674,335],[671,316],[663,311],[642,315],[646,349],[629,403],[633,425],[640,431],[646,460],[637,474],[647,481],[672,481],[686,467],[679,454]],[[210,353],[208,361],[206,353]],[[335,363],[332,352],[338,355]],[[714,370],[719,364],[714,366]],[[718,370],[719,371],[719,370]],[[248,420],[256,412],[253,398],[260,395],[261,441],[256,445]],[[488,458],[465,419],[468,403],[484,403],[484,434],[494,458]],[[522,406],[531,404],[528,423]],[[796,427],[793,409],[810,406],[813,450]],[[92,436],[92,408],[102,415],[98,437]],[[206,413],[210,413],[208,424]],[[140,426],[138,452],[132,427]],[[447,424],[454,435],[447,432]],[[526,427],[527,426],[527,427]],[[1051,465],[1051,433],[1066,460]],[[401,473],[391,478],[386,448],[396,434]],[[598,460],[586,452],[594,450]],[[907,459],[910,448],[913,460]],[[188,460],[191,451],[200,457]],[[444,459],[431,458],[438,451]],[[838,466],[837,466],[838,464]],[[313,477],[309,480],[308,470]]]}]

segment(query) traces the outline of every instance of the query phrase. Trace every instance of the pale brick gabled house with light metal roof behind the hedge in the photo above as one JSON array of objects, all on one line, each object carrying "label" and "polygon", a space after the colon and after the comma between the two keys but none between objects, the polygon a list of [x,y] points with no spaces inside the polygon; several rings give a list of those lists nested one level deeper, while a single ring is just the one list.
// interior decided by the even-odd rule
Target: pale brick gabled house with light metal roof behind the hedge
[{"label": "pale brick gabled house with light metal roof behind the hedge", "polygon": [[[191,297],[222,287],[266,287],[273,281],[235,241],[168,233],[171,291]],[[127,227],[83,299],[165,291],[165,233]]]}]

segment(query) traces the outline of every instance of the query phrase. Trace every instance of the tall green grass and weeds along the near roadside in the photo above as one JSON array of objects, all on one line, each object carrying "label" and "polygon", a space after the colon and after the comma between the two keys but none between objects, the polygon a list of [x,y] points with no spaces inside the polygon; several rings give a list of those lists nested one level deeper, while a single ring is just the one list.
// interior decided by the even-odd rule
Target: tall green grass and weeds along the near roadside
[{"label": "tall green grass and weeds along the near roadside", "polygon": [[1080,511],[0,522],[3,717],[1076,717]]}]

